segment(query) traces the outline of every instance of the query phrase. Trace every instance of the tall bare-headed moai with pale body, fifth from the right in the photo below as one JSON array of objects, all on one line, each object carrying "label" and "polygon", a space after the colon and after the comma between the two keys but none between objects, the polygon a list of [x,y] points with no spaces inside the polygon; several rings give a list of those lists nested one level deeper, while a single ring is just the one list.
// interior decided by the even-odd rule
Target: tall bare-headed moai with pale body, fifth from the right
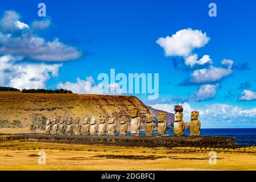
[{"label": "tall bare-headed moai with pale body, fifth from the right", "polygon": [[131,111],[131,136],[139,136],[141,134],[141,118],[138,117],[138,112],[137,108]]}]

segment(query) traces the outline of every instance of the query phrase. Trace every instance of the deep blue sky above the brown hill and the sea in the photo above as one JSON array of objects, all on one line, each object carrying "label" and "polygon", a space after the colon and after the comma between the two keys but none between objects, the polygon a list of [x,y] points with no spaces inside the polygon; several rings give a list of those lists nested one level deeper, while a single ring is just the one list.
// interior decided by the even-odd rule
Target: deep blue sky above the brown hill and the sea
[{"label": "deep blue sky above the brown hill and the sea", "polygon": [[[46,4],[46,18],[38,16],[40,2]],[[217,17],[208,15],[210,2],[217,5]],[[135,94],[145,104],[172,113],[175,104],[182,104],[187,109],[186,121],[189,121],[191,110],[199,110],[205,128],[256,127],[255,9],[254,1],[3,0],[0,6],[2,19],[6,17],[6,11],[15,12],[19,15],[17,20],[26,23],[29,30],[15,27],[7,30],[6,24],[2,24],[1,32],[15,38],[25,35],[42,38],[47,53],[43,57],[37,55],[42,54],[42,50],[17,52],[17,48],[13,50],[10,45],[5,45],[11,44],[13,39],[0,42],[0,56],[14,56],[5,61],[2,72],[0,67],[4,80],[0,84],[54,89],[61,83],[68,89],[76,87],[73,91],[77,93],[97,93],[98,74],[109,73],[110,68],[126,74],[159,73],[158,100]],[[35,21],[46,20],[50,24],[45,28],[33,25]],[[197,54],[199,60],[209,55],[212,64],[191,67],[185,64],[188,56],[166,56],[156,41],[172,37],[181,30],[205,33],[208,42],[192,48],[188,56]],[[59,47],[53,50],[47,41],[53,42],[54,38],[58,38],[55,43]],[[2,51],[1,46],[5,47]],[[64,52],[63,59],[53,60],[52,57],[59,56],[56,52]],[[221,63],[225,59],[233,61],[230,69],[229,65]],[[189,82],[193,72],[212,67],[225,68],[230,73],[217,81]],[[36,70],[36,73],[30,73],[30,70]],[[13,74],[7,75],[10,72]],[[32,79],[31,75],[34,75]],[[86,77],[90,78],[86,80]],[[85,87],[89,87],[89,91]]]}]

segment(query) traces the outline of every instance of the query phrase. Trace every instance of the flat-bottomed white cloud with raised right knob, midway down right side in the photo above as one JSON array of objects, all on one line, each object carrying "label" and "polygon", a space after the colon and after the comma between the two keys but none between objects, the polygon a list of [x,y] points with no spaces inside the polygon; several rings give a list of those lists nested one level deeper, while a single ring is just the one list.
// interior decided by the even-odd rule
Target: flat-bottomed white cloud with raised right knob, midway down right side
[{"label": "flat-bottomed white cloud with raised right knob, midway down right side", "polygon": [[209,68],[197,69],[193,71],[191,81],[196,83],[214,82],[221,80],[223,77],[231,75],[233,73],[233,61],[223,60],[221,63],[224,65],[228,65],[228,68],[217,68],[211,65]]}]

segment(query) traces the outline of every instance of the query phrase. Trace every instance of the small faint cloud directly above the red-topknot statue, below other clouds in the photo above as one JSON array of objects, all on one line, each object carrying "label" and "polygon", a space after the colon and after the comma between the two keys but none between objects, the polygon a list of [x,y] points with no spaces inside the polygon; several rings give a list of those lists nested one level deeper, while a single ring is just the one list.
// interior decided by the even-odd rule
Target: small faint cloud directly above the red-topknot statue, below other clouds
[{"label": "small faint cloud directly above the red-topknot statue, below other clouds", "polygon": [[199,86],[199,89],[195,92],[195,94],[192,94],[190,100],[191,101],[203,101],[209,98],[213,98],[216,96],[216,89],[218,88],[217,85],[201,85]]}]

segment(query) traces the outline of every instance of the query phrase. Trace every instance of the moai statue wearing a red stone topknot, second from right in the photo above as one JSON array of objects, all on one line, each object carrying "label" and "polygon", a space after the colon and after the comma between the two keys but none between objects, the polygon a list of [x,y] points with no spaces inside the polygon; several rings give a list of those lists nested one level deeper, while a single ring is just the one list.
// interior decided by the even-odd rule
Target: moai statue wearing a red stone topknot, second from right
[{"label": "moai statue wearing a red stone topknot, second from right", "polygon": [[174,135],[184,136],[185,122],[183,121],[183,107],[175,106]]}]

